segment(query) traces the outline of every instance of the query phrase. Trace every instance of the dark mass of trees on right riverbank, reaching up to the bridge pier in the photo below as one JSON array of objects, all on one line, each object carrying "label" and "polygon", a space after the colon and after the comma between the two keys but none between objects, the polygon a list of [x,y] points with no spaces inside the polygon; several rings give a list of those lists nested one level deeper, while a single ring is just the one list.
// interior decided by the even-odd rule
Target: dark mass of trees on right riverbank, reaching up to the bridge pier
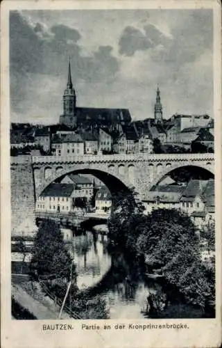
[{"label": "dark mass of trees on right riverbank, reaching up to the bridge pier", "polygon": [[133,251],[135,258],[143,256],[187,301],[201,308],[214,303],[214,263],[201,260],[200,239],[187,214],[157,209],[145,216],[132,192],[119,199],[108,227],[112,244]]}]

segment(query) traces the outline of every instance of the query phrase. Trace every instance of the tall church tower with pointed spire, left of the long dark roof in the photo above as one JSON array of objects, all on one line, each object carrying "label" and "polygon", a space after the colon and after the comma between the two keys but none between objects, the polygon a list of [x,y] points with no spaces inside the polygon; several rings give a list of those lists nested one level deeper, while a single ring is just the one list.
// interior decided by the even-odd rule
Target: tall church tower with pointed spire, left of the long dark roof
[{"label": "tall church tower with pointed spire, left of the long dark roof", "polygon": [[65,88],[63,94],[63,115],[60,117],[60,123],[63,123],[67,126],[76,125],[76,92],[71,81],[70,61],[67,88]]}]

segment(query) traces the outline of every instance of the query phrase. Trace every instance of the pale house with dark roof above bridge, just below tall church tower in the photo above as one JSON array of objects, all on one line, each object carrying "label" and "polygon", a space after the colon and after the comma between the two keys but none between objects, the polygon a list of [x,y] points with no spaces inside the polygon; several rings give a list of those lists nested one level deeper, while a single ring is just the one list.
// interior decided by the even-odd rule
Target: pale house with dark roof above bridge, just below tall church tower
[{"label": "pale house with dark roof above bridge, just below tall church tower", "polygon": [[56,156],[84,155],[84,141],[80,134],[55,134],[51,149]]}]

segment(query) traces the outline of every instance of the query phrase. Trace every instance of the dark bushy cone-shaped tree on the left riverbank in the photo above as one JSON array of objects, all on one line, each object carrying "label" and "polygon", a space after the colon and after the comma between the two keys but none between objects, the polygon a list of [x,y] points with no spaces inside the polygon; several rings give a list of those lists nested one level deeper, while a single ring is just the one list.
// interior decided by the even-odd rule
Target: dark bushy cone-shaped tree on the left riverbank
[{"label": "dark bushy cone-shaped tree on the left riverbank", "polygon": [[[69,279],[71,257],[65,248],[59,226],[52,220],[44,220],[34,240],[31,270],[37,276]],[[73,267],[73,278],[75,267]]]}]

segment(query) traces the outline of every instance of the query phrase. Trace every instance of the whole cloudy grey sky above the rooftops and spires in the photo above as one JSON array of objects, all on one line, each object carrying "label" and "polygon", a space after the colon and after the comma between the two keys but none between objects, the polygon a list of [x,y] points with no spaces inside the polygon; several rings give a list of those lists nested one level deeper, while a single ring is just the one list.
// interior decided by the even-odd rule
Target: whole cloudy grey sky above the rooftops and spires
[{"label": "whole cloudy grey sky above the rooftops and spires", "polygon": [[58,122],[69,57],[77,106],[213,117],[212,10],[10,11],[12,122]]}]

